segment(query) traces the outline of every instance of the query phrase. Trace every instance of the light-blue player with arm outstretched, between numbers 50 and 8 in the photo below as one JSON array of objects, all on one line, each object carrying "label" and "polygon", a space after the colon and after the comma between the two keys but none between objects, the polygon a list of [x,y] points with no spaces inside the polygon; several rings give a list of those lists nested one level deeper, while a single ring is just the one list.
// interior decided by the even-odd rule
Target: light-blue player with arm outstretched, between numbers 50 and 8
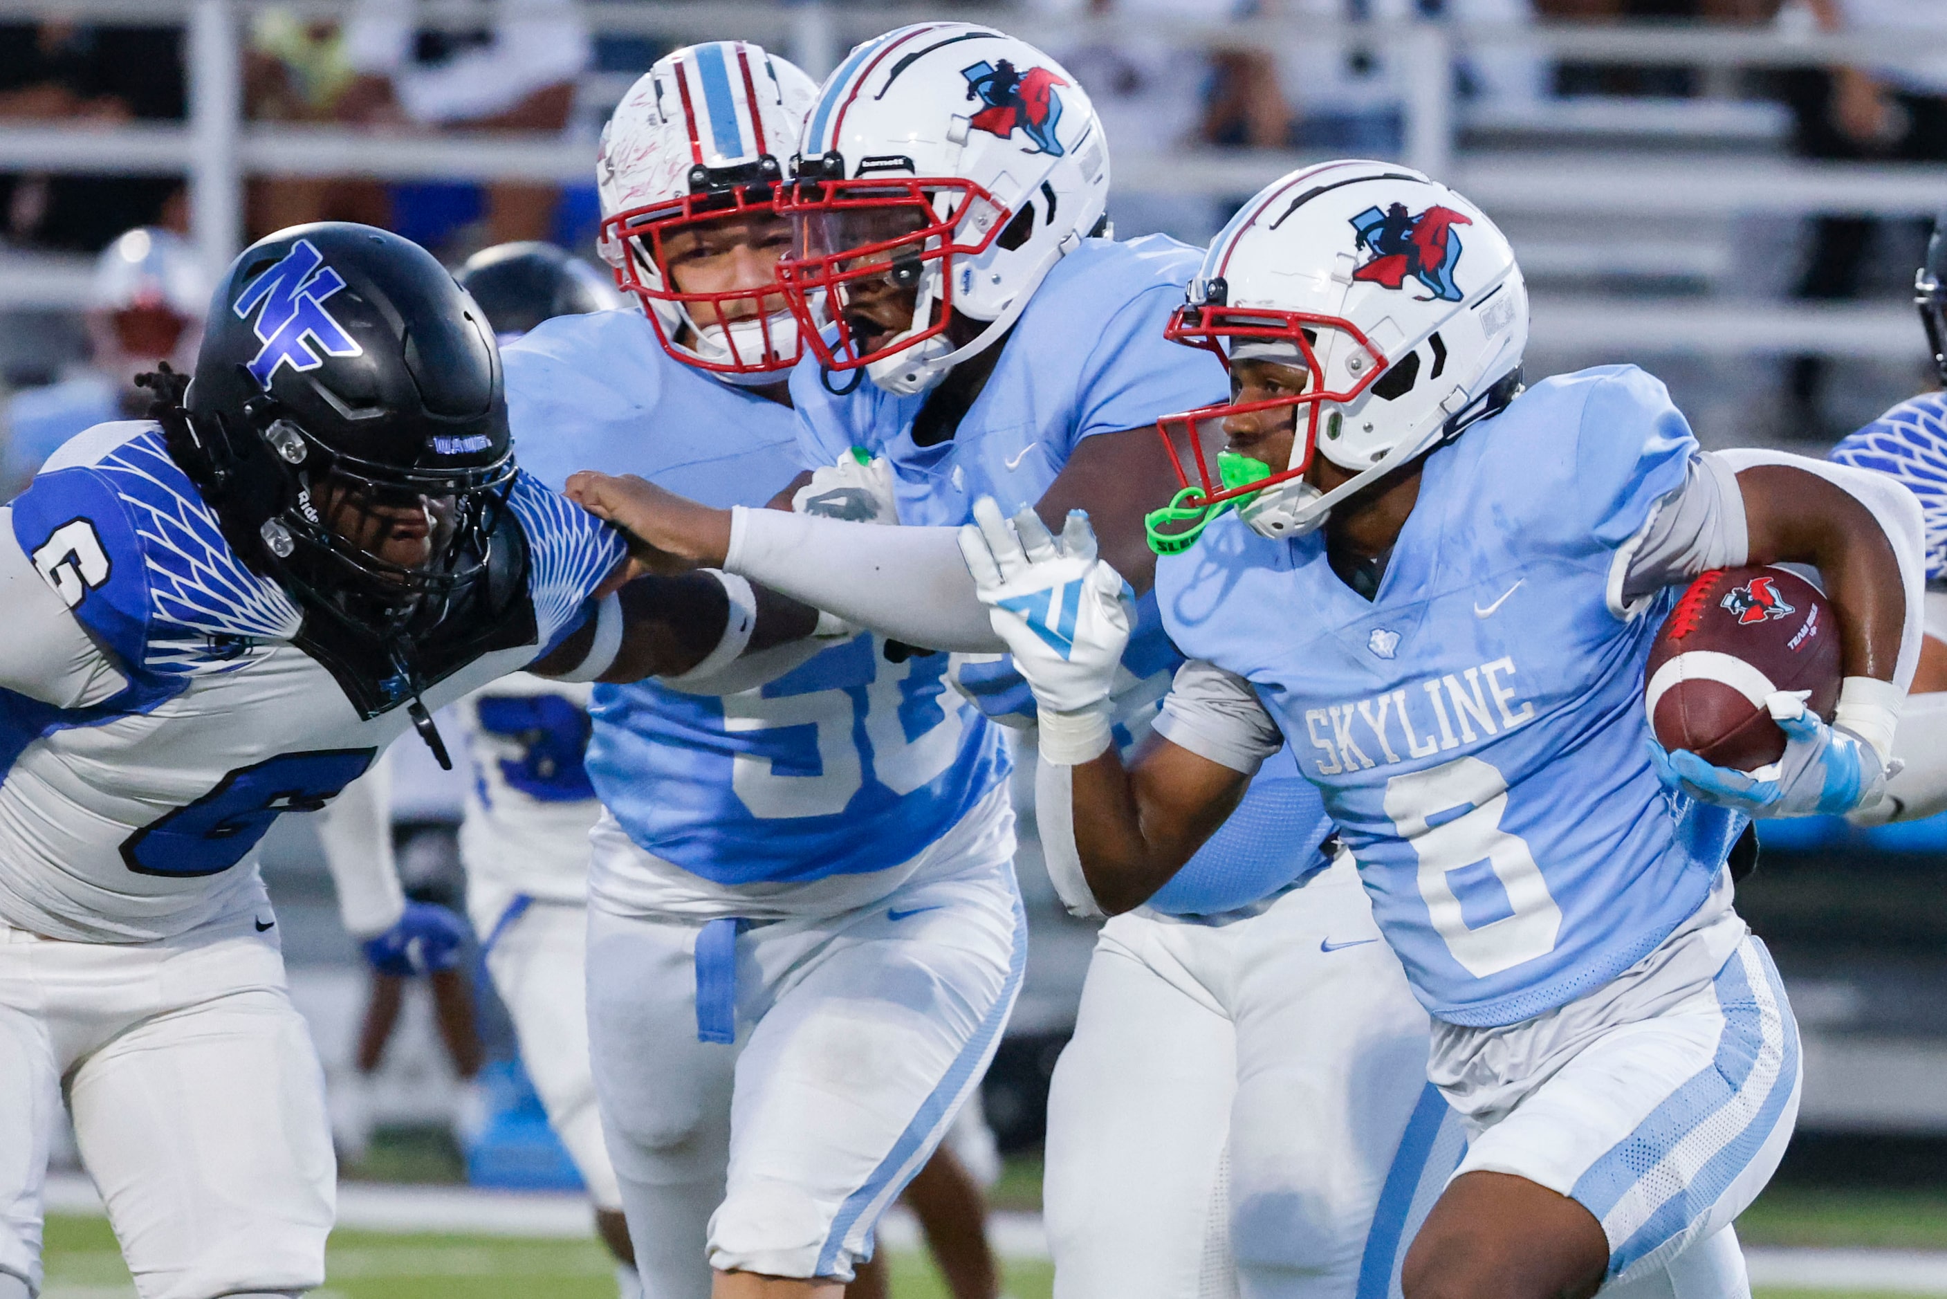
[{"label": "light-blue player with arm outstretched, between numbers 50 and 8", "polygon": [[[944,654],[925,650],[1007,649],[952,532],[981,495],[1051,520],[1086,506],[1147,586],[1143,510],[1170,481],[1153,423],[1225,380],[1162,339],[1197,253],[1104,238],[1106,193],[1100,123],[1042,51],[970,23],[861,45],[820,92],[783,203],[798,245],[781,275],[812,351],[790,395],[806,458],[827,465],[806,491],[907,526],[578,485],[596,508],[646,502],[629,520],[650,543],[705,541],[685,559],[728,559],[921,647],[907,662],[927,672]],[[1151,621],[1125,656],[1123,715],[1141,682],[1160,695],[1170,662]],[[962,682],[1010,707],[995,664]],[[1063,1295],[1229,1289],[1232,1252],[1248,1293],[1388,1285],[1419,1180],[1433,1169],[1437,1184],[1458,1143],[1423,1095],[1427,1017],[1349,859],[1320,853],[1328,832],[1277,758],[1153,909],[1104,929],[1049,1110]]]}]

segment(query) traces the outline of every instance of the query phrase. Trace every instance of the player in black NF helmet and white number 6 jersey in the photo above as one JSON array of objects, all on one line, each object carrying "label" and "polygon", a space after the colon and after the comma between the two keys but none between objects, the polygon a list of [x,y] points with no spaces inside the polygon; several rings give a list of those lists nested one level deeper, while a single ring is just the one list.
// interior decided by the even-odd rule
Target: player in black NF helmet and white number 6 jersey
[{"label": "player in black NF helmet and white number 6 jersey", "polygon": [[493,335],[397,236],[251,245],[187,401],[152,386],[0,510],[6,1299],[62,1095],[144,1299],[319,1285],[331,1143],[257,841],[496,676],[681,670],[722,619],[709,578],[596,598],[623,541],[514,467]]}]

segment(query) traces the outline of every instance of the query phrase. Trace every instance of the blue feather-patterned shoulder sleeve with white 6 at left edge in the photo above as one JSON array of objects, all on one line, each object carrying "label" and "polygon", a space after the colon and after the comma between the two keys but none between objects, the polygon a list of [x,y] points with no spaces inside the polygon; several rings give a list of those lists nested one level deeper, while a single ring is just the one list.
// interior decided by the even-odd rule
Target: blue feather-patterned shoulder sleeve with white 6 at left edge
[{"label": "blue feather-patterned shoulder sleeve with white 6 at left edge", "polygon": [[56,454],[14,502],[14,536],[125,668],[154,684],[243,666],[302,625],[251,573],[154,427],[105,452]]}]

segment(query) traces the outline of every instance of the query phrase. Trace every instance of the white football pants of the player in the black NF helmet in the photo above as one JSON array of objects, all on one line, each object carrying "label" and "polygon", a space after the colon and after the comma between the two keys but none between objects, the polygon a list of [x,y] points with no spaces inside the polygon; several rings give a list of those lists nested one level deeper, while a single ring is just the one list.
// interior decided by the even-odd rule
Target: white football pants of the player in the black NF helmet
[{"label": "white football pants of the player in the black NF helmet", "polygon": [[160,943],[56,943],[0,923],[0,1274],[39,1285],[66,1079],[82,1163],[142,1299],[323,1283],[337,1204],[323,1071],[255,900]]}]

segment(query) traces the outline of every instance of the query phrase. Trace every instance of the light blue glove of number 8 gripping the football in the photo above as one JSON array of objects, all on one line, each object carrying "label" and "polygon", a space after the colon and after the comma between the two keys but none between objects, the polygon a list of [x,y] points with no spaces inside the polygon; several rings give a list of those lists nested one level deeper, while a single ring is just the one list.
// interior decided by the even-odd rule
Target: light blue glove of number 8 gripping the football
[{"label": "light blue glove of number 8 gripping the football", "polygon": [[1657,779],[1704,802],[1733,808],[1760,820],[1766,816],[1844,816],[1877,802],[1887,771],[1879,752],[1842,726],[1826,726],[1807,711],[1811,691],[1780,689],[1764,705],[1785,732],[1785,756],[1756,773],[1713,767],[1686,748],[1665,754],[1649,740],[1649,760]]}]

